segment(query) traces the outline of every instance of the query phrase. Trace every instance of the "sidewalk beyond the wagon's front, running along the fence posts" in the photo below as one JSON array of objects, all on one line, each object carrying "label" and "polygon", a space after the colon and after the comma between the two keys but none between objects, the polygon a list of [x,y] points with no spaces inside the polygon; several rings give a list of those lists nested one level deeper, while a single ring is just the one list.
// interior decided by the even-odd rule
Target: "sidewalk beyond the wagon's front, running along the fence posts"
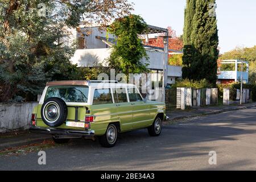
[{"label": "sidewalk beyond the wagon's front, running along the fence posts", "polygon": [[198,117],[201,115],[224,113],[232,110],[247,109],[251,107],[256,107],[256,102],[243,105],[192,107],[192,109],[189,110],[167,110],[166,114],[170,119],[169,121],[172,121],[177,119]]}]

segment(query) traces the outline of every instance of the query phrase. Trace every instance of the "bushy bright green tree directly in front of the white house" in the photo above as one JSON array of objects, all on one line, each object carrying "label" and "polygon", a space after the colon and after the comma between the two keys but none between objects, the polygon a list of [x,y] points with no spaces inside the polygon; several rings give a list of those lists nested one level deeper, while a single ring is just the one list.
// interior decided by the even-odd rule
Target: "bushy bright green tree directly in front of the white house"
[{"label": "bushy bright green tree directly in front of the white house", "polygon": [[[117,36],[117,44],[113,46],[109,57],[111,68],[119,69],[125,73],[145,73],[148,72],[147,64],[142,59],[148,60],[146,49],[138,34],[142,34],[147,28],[146,22],[139,15],[129,15],[115,19],[108,28],[110,34]],[[117,71],[117,72],[118,72]]]}]

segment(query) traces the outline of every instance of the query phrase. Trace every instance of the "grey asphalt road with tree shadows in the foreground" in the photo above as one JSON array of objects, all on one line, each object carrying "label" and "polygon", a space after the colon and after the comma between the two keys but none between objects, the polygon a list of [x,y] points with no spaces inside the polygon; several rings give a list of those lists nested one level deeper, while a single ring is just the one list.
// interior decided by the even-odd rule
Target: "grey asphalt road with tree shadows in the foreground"
[{"label": "grey asphalt road with tree shadows in the foreground", "polygon": [[[1,170],[255,170],[256,109],[229,111],[165,125],[160,137],[147,130],[119,135],[114,148],[78,139],[38,153],[0,157]],[[210,165],[209,152],[217,164]]]}]

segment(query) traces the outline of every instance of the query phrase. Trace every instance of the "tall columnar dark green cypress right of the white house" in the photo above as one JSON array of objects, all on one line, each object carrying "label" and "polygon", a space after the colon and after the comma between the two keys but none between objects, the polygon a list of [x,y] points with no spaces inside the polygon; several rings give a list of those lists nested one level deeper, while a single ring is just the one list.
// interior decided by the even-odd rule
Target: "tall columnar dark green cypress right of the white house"
[{"label": "tall columnar dark green cypress right of the white house", "polygon": [[184,24],[183,78],[206,78],[216,84],[218,30],[216,16],[210,14],[215,0],[187,0]]}]

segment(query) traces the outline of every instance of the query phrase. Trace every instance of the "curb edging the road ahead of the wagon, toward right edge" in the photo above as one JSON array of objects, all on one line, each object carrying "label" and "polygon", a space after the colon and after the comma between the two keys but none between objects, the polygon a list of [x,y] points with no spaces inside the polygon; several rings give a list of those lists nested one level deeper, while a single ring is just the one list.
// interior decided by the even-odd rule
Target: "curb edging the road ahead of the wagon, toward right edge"
[{"label": "curb edging the road ahead of the wagon, toward right edge", "polygon": [[[254,105],[254,106],[242,106],[242,107],[233,108],[233,109],[223,109],[223,110],[213,111],[213,112],[210,112],[210,113],[203,113],[203,114],[196,114],[196,115],[189,115],[189,116],[179,116],[179,117],[169,119],[168,121],[176,121],[176,120],[180,120],[180,119],[195,118],[195,117],[200,117],[200,116],[204,116],[204,115],[214,115],[214,114],[225,113],[227,111],[250,109],[250,108],[253,108],[253,107],[256,107],[256,105]],[[168,122],[168,121],[166,121],[166,122]]]}]

